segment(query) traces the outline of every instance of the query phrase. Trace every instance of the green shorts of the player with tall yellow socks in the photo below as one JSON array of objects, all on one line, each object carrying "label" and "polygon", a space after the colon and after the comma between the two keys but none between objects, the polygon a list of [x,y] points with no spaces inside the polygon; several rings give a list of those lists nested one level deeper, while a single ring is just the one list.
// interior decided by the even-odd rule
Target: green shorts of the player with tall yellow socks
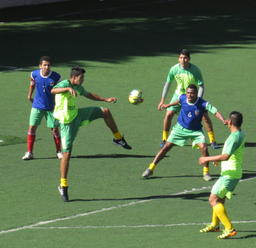
[{"label": "green shorts of the player with tall yellow socks", "polygon": [[227,196],[232,199],[233,191],[240,179],[220,176],[218,181],[213,185],[211,193],[218,195],[221,199]]}]

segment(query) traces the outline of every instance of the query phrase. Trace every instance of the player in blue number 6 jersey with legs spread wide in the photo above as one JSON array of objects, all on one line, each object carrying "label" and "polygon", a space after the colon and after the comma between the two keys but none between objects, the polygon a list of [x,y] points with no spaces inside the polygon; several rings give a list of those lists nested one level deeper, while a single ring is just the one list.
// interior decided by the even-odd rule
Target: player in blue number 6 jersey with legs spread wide
[{"label": "player in blue number 6 jersey with legs spread wide", "polygon": [[[204,101],[203,98],[197,96],[197,87],[194,84],[188,85],[186,94],[180,95],[178,100],[170,104],[163,104],[162,108],[169,108],[170,106],[181,105],[181,111],[178,117],[178,123],[172,128],[166,144],[156,154],[150,167],[142,174],[144,178],[153,175],[153,170],[175,145],[184,146],[187,139],[192,139],[193,148],[199,147],[202,156],[209,156],[206,139],[202,131],[202,118],[209,119],[208,111],[221,120],[224,125],[227,125],[227,120],[223,115],[209,102]],[[203,178],[206,181],[212,180],[209,173],[209,162],[204,163]]]}]

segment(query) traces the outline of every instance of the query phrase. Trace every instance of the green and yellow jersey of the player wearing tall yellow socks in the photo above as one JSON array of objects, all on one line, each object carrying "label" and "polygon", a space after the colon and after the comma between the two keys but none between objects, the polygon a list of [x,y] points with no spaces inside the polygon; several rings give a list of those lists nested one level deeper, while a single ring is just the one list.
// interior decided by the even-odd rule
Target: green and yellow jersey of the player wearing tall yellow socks
[{"label": "green and yellow jersey of the player wearing tall yellow socks", "polygon": [[221,176],[240,179],[242,177],[242,158],[245,135],[242,130],[231,133],[227,138],[222,154],[230,155],[228,161],[221,162]]}]

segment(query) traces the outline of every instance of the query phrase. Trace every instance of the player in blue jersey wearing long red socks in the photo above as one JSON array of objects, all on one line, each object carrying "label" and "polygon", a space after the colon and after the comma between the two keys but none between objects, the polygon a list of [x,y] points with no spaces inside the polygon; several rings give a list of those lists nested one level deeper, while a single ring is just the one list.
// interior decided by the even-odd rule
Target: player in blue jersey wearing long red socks
[{"label": "player in blue jersey wearing long red socks", "polygon": [[[51,71],[52,60],[48,56],[41,57],[38,70],[31,72],[31,84],[28,93],[28,100],[32,103],[28,130],[28,152],[23,156],[23,160],[34,159],[33,147],[36,139],[36,129],[45,116],[47,127],[52,129],[54,142],[56,145],[57,158],[62,159],[61,137],[59,133],[59,122],[53,117],[55,106],[52,88],[61,80],[61,76]],[[35,98],[32,94],[36,88]]]}]

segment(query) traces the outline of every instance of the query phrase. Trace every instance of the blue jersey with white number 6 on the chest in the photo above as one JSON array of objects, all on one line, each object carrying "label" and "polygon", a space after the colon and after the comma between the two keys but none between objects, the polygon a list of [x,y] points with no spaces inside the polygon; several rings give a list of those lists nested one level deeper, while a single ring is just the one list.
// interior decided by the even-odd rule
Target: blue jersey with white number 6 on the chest
[{"label": "blue jersey with white number 6 on the chest", "polygon": [[195,103],[188,103],[186,94],[179,96],[181,111],[178,117],[179,125],[188,130],[202,130],[203,114],[207,111],[208,102],[203,98],[197,97]]}]

